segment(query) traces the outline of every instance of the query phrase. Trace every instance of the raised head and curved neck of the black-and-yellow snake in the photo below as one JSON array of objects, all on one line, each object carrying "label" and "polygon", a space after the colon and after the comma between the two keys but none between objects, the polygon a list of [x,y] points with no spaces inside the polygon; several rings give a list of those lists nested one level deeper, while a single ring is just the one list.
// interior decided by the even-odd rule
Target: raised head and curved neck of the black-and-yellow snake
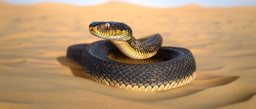
[{"label": "raised head and curved neck of the black-and-yellow snake", "polygon": [[132,36],[131,28],[120,22],[93,22],[89,25],[92,35],[110,40],[119,50],[131,59],[147,59],[155,55],[163,39],[158,34],[152,40],[141,42]]}]

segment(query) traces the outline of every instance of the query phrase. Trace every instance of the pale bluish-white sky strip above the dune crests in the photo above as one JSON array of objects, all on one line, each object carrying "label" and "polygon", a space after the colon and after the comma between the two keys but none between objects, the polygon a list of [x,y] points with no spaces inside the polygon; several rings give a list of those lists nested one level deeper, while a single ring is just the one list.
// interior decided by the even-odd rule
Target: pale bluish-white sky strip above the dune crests
[{"label": "pale bluish-white sky strip above the dune crests", "polygon": [[65,3],[71,5],[98,5],[109,1],[123,1],[149,7],[176,7],[197,4],[203,7],[256,6],[256,0],[0,0],[16,5],[29,5],[41,2]]}]

